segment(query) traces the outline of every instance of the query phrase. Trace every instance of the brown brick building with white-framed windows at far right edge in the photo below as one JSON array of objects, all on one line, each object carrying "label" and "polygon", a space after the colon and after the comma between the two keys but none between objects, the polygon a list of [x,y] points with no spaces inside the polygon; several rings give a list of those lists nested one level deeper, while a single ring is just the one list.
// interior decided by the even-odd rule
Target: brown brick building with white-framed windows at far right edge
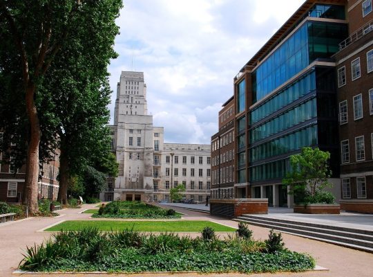
[{"label": "brown brick building with white-framed windows at far right edge", "polygon": [[372,0],[346,6],[349,37],[340,44],[336,84],[341,145],[341,209],[373,213]]}]

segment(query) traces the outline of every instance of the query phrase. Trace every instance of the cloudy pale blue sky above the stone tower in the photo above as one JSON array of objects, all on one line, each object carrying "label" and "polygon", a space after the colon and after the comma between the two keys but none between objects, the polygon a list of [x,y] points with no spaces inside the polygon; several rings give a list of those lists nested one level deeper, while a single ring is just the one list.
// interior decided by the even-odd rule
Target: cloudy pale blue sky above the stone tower
[{"label": "cloudy pale blue sky above the stone tower", "polygon": [[233,78],[303,2],[124,0],[108,68],[111,124],[121,71],[141,71],[164,142],[210,144]]}]

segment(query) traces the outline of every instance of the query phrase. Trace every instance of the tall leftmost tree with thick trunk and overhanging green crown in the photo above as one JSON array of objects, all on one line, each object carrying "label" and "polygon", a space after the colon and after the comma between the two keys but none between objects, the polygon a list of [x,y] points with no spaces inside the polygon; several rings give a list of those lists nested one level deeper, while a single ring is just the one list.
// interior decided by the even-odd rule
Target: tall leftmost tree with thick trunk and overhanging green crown
[{"label": "tall leftmost tree with thick trunk and overhanging green crown", "polygon": [[[23,84],[28,121],[26,190],[23,199],[31,212],[38,211],[39,145],[43,135],[40,115],[43,111],[38,109],[37,101],[48,99],[43,94],[46,90],[41,89],[47,81],[46,73],[55,58],[61,57],[61,49],[67,45],[70,37],[75,36],[76,30],[86,29],[89,32],[86,24],[102,18],[109,20],[109,25],[112,25],[120,6],[119,0],[0,0],[0,57],[17,57],[16,61],[19,62],[15,70],[3,72],[20,74]],[[117,33],[117,28],[113,33]],[[106,38],[102,37],[103,40]],[[98,47],[103,40],[96,42]],[[7,62],[3,59],[0,61],[0,70]],[[106,60],[103,62],[107,64]]]}]

